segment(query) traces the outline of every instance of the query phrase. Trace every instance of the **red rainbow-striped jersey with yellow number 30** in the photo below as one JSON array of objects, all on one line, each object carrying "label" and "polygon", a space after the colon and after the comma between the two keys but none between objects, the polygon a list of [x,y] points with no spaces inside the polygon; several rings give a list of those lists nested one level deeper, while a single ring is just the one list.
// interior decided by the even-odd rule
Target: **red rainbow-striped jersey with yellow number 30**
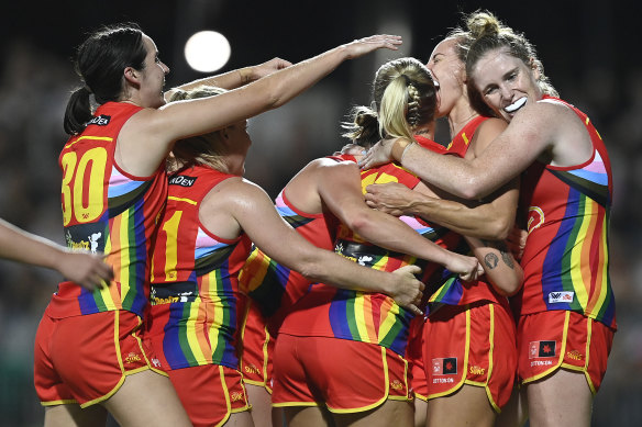
[{"label": "red rainbow-striped jersey with yellow number 30", "polygon": [[113,310],[143,316],[147,306],[148,252],[165,205],[166,175],[159,167],[151,177],[134,177],[114,161],[120,130],[140,110],[122,102],[99,106],[86,130],[70,137],[60,153],[67,246],[104,252],[114,279],[93,292],[60,283],[47,308],[54,317]]}]

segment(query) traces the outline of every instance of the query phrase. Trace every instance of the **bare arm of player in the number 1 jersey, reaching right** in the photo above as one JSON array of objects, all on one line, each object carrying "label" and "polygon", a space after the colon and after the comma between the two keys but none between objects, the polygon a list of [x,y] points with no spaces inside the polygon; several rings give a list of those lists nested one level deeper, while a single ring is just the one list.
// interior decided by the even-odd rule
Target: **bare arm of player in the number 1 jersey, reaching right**
[{"label": "bare arm of player in the number 1 jersey, reaching right", "polygon": [[220,224],[215,217],[224,214],[270,258],[306,278],[344,289],[385,293],[400,306],[421,313],[417,304],[424,285],[412,276],[420,272],[419,268],[407,266],[397,273],[387,273],[358,266],[301,237],[280,217],[258,186],[229,179],[217,187],[220,189],[208,194],[200,207],[201,221],[208,228],[213,222]]}]

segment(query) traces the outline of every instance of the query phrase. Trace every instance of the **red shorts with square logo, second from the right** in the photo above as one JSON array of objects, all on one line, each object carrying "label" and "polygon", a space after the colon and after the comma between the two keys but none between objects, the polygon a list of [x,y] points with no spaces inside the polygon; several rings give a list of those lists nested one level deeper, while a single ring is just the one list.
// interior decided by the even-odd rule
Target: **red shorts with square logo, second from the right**
[{"label": "red shorts with square logo, second from the right", "polygon": [[469,384],[486,389],[496,412],[508,403],[517,370],[508,304],[445,305],[428,318],[424,333],[429,400]]}]

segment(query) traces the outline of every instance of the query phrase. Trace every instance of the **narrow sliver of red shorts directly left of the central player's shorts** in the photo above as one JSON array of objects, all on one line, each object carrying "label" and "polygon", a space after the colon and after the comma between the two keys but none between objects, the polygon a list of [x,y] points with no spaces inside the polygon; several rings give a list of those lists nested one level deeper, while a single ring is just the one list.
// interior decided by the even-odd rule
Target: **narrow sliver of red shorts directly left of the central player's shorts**
[{"label": "narrow sliver of red shorts directly left of the central player's shorts", "polygon": [[274,338],[265,326],[265,318],[258,306],[250,302],[245,324],[241,329],[242,351],[239,359],[243,381],[265,387],[272,393],[272,358]]}]

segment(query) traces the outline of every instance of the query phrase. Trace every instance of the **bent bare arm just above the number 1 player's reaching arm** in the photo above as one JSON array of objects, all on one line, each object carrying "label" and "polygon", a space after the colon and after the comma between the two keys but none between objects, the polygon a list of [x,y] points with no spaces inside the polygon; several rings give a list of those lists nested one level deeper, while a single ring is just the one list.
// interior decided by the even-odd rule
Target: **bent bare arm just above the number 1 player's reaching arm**
[{"label": "bent bare arm just above the number 1 player's reaching arm", "polygon": [[330,211],[350,229],[369,243],[389,250],[441,263],[472,280],[477,273],[474,258],[452,252],[422,237],[402,221],[369,209],[362,193],[358,167],[352,161],[326,160],[317,177],[318,191]]}]

